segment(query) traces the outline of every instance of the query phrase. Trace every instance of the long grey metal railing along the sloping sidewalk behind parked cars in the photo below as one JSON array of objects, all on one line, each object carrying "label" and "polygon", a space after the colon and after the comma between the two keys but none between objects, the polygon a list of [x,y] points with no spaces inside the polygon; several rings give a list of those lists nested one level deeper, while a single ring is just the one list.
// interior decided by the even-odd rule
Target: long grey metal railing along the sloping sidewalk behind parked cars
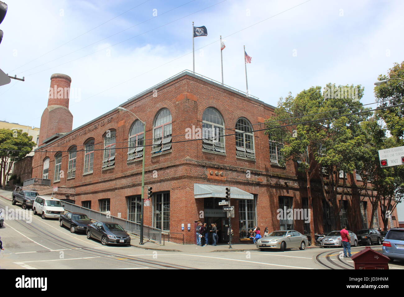
[{"label": "long grey metal railing along the sloping sidewalk behind parked cars", "polygon": [[[117,223],[121,225],[126,232],[138,236],[140,235],[140,223],[114,217],[112,215],[107,215],[105,213],[94,211],[93,209],[88,209],[86,207],[72,204],[66,201],[63,201],[62,204],[64,205],[64,209],[67,211],[84,213],[90,219],[93,219],[95,221],[108,221],[112,223]],[[161,244],[161,229],[143,225],[143,236],[151,241],[158,242]]]}]

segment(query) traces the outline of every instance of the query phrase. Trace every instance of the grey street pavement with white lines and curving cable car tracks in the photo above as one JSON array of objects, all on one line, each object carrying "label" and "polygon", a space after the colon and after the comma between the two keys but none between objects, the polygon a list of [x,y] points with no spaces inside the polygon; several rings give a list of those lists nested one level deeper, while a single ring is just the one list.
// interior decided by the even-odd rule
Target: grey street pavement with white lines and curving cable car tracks
[{"label": "grey street pavement with white lines and curving cable car tracks", "polygon": [[[21,210],[11,204],[11,192],[0,190],[0,208]],[[86,235],[72,234],[58,219],[41,219],[32,211],[25,220],[6,219],[0,228],[5,251],[0,266],[6,269],[353,269],[341,249],[309,248],[304,251],[261,252],[253,244],[158,245],[132,239],[133,246],[102,246]],[[27,222],[28,221],[28,222]],[[381,246],[374,246],[381,251]],[[354,248],[353,253],[362,249]],[[226,252],[225,252],[226,251]],[[390,269],[404,269],[403,262],[390,262]]]}]

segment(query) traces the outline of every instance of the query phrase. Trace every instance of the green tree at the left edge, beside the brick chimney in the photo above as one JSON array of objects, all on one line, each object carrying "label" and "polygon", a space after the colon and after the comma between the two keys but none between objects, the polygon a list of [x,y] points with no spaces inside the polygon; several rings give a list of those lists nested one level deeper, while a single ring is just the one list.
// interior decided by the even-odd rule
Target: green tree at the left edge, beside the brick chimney
[{"label": "green tree at the left edge, beside the brick chimney", "polygon": [[[35,143],[32,136],[22,130],[0,129],[0,171],[3,190],[6,187],[6,178],[11,171],[14,162],[27,156],[32,151]],[[15,152],[21,151],[21,152]],[[7,163],[9,165],[7,166]]]}]

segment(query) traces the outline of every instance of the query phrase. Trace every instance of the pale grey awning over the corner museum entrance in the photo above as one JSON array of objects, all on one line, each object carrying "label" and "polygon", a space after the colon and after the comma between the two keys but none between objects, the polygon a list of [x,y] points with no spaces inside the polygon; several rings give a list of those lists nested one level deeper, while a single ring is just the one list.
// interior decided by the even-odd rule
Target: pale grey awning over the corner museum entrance
[{"label": "pale grey awning over the corner museum entrance", "polygon": [[[194,183],[195,198],[226,198],[226,187],[220,185],[203,185]],[[235,199],[254,199],[254,195],[239,189],[238,187],[230,187],[230,198]]]}]

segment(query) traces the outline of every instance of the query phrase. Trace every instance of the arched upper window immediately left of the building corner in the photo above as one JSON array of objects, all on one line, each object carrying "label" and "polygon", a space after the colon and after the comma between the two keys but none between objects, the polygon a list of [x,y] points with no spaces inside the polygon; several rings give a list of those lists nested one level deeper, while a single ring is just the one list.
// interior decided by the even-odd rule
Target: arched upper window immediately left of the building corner
[{"label": "arched upper window immediately left of the building corner", "polygon": [[152,154],[171,149],[171,135],[173,135],[171,112],[164,108],[156,116],[153,129]]}]

